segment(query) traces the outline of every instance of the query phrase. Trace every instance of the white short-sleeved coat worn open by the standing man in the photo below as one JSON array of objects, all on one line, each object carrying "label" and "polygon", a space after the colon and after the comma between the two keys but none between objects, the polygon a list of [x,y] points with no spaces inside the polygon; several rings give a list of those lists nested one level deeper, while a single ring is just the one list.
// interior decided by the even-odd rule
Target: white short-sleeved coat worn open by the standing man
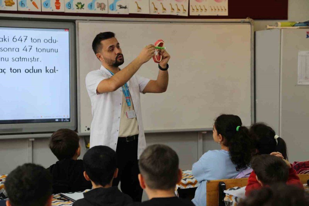
[{"label": "white short-sleeved coat worn open by the standing man", "polygon": [[[86,76],[86,88],[91,100],[92,122],[90,131],[90,147],[105,145],[116,151],[119,135],[122,88],[115,92],[98,94],[99,83],[103,79],[111,78],[111,73],[103,66],[99,70],[91,71]],[[138,121],[138,159],[146,148],[140,93],[150,79],[133,75],[127,82]]]}]

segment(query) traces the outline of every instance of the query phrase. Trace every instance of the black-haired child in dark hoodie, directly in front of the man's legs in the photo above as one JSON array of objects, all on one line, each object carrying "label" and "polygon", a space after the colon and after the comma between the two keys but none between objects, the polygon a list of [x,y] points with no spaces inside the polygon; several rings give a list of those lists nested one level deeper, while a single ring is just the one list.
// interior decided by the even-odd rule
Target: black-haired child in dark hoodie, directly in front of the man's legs
[{"label": "black-haired child in dark hoodie, directly in front of the man's legs", "polygon": [[95,146],[89,149],[83,158],[84,177],[91,181],[93,189],[84,193],[84,198],[74,202],[73,206],[123,206],[132,203],[129,195],[118,187],[112,187],[117,177],[116,152],[107,146]]}]

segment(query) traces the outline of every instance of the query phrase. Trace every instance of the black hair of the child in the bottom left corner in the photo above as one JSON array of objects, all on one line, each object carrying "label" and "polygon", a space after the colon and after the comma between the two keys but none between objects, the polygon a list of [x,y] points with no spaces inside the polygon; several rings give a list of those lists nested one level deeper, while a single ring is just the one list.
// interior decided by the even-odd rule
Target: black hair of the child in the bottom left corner
[{"label": "black hair of the child in the bottom left corner", "polygon": [[44,206],[52,195],[51,174],[31,163],[13,170],[4,186],[12,206]]}]

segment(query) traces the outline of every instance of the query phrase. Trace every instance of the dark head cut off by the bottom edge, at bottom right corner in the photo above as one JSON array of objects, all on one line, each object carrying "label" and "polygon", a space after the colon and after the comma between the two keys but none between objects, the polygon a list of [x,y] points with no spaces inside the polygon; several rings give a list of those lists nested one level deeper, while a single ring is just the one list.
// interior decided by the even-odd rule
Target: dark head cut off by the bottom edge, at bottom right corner
[{"label": "dark head cut off by the bottom edge, at bottom right corner", "polygon": [[275,184],[254,190],[239,206],[309,206],[309,195],[293,185]]}]

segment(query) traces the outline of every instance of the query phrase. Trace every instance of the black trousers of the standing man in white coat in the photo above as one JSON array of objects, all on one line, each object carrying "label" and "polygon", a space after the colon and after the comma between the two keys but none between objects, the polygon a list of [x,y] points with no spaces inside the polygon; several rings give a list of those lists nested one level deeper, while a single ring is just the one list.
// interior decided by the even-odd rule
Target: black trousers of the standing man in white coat
[{"label": "black trousers of the standing man in white coat", "polygon": [[117,178],[113,180],[112,186],[118,186],[120,181],[121,191],[132,197],[134,202],[141,202],[143,189],[138,181],[137,149],[138,139],[127,142],[126,138],[118,138],[116,154],[119,171]]}]

